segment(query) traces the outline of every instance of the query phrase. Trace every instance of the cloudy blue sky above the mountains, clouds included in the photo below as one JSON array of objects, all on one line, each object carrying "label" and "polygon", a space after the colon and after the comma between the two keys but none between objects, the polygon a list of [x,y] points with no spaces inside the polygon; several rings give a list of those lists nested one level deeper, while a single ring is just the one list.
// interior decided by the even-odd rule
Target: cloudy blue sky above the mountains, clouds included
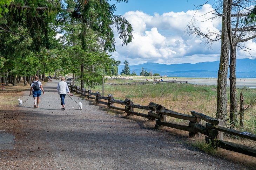
[{"label": "cloudy blue sky above the mountains, clouds included", "polygon": [[[202,5],[196,10],[194,5]],[[214,0],[128,0],[128,3],[111,0],[117,7],[115,15],[123,15],[133,26],[134,39],[122,46],[115,33],[116,51],[112,57],[129,65],[146,62],[162,64],[198,63],[217,61],[220,56],[220,41],[206,44],[195,35],[188,35],[187,24],[194,23],[202,32],[219,34],[221,19],[207,20],[215,16]],[[206,15],[204,15],[206,14]],[[255,41],[245,44],[256,47]],[[256,51],[251,52],[256,56]],[[237,58],[251,58],[242,50]]]}]

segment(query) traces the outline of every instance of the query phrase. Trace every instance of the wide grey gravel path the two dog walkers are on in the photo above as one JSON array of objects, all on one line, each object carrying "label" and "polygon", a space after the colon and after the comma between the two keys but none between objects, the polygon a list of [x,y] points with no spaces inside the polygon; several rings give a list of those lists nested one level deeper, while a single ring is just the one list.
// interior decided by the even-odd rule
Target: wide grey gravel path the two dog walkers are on
[{"label": "wide grey gravel path the two dog walkers are on", "polygon": [[[40,108],[30,97],[20,110],[12,150],[0,153],[0,169],[247,169],[185,144],[183,137],[143,126],[66,96],[61,111],[58,81],[45,84]],[[25,91],[23,101],[29,91]]]}]

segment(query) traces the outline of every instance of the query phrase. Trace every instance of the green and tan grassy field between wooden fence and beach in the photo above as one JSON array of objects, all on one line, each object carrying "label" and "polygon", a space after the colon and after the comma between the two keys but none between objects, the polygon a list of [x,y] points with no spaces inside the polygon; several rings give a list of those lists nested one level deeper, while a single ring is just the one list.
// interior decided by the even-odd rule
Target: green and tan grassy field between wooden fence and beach
[{"label": "green and tan grassy field between wooden fence and beach", "polygon": [[[115,82],[116,81],[116,82]],[[132,80],[121,80],[122,83],[133,82]],[[120,80],[110,80],[106,83],[120,83]],[[96,86],[93,91],[102,92],[102,86]],[[229,90],[228,90],[229,91]],[[243,92],[245,105],[256,98],[256,90],[252,88],[237,89],[238,108],[240,93]],[[196,111],[216,117],[217,87],[209,85],[161,83],[148,85],[104,85],[105,96],[113,94],[115,99],[126,98],[135,104],[148,106],[149,102],[155,102],[175,112],[190,114]],[[228,94],[229,98],[229,94]],[[227,111],[229,111],[229,106]],[[140,110],[143,112],[143,110]],[[147,111],[144,111],[147,114]],[[228,118],[229,112],[227,113]],[[239,118],[239,115],[238,115]],[[170,118],[169,121],[181,120]],[[187,124],[187,122],[184,122]],[[227,122],[228,123],[228,122]],[[256,132],[256,108],[253,107],[245,112],[244,130]]]}]

